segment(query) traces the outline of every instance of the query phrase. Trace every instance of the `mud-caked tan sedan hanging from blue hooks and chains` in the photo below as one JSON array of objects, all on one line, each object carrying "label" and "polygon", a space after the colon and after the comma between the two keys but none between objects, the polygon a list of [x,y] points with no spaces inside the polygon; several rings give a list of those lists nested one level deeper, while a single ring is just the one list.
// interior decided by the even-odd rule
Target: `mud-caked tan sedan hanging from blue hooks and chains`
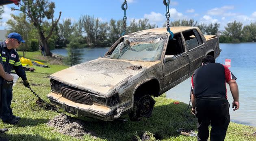
[{"label": "mud-caked tan sedan hanging from blue hooks and chains", "polygon": [[120,37],[104,57],[50,75],[50,102],[76,116],[111,121],[150,117],[160,96],[219,56],[219,40],[197,27],[156,28]]}]

